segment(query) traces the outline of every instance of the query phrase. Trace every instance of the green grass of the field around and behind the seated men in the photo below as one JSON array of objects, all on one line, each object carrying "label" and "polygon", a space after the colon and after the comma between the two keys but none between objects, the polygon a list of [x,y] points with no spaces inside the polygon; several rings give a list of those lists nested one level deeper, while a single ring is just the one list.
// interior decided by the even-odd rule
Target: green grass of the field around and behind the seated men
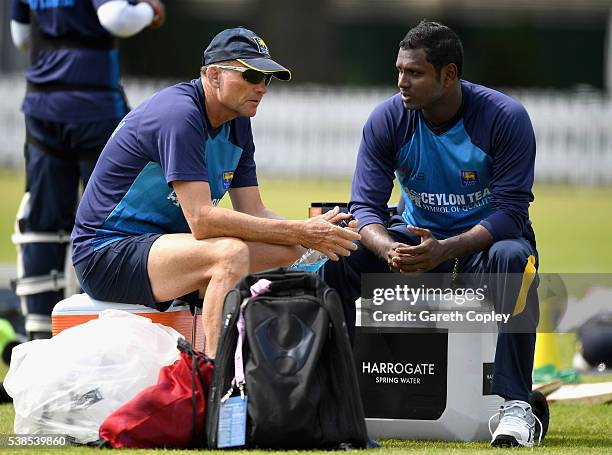
[{"label": "green grass of the field around and behind the seated men", "polygon": [[[350,182],[261,179],[263,200],[288,218],[305,218],[311,201],[346,201]],[[0,262],[14,262],[10,243],[15,213],[23,192],[23,175],[0,170]],[[612,188],[574,188],[539,185],[531,219],[538,238],[543,272],[612,272]],[[393,201],[398,200],[397,190]],[[228,201],[222,205],[227,206]],[[0,377],[6,368],[0,366]],[[611,380],[602,377],[587,381]],[[0,405],[0,434],[12,433],[13,408]],[[611,405],[552,405],[551,427],[539,453],[611,453]],[[385,453],[491,453],[486,443],[427,441],[382,441]],[[71,448],[72,453],[94,453],[97,449]],[[57,450],[19,450],[19,454],[57,454]],[[122,453],[153,451],[122,451]],[[177,451],[178,452],[178,451]],[[160,453],[156,451],[155,453]],[[189,452],[193,453],[193,452]],[[253,453],[244,452],[244,453]],[[261,452],[260,452],[261,453]],[[323,452],[322,452],[323,453]],[[325,452],[329,453],[329,452]]]}]

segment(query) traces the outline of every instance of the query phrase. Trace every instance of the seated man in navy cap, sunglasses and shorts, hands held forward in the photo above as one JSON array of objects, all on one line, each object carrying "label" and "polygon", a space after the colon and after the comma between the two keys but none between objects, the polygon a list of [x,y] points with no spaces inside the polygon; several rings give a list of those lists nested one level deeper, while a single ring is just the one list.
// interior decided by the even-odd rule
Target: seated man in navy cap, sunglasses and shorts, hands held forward
[{"label": "seated man in navy cap, sunglasses and shorts, hands held forward", "polygon": [[[96,299],[165,310],[204,297],[205,351],[214,356],[223,298],[248,273],[289,265],[313,248],[333,260],[359,234],[338,211],[306,221],[266,208],[249,117],[272,77],[291,73],[245,28],[219,33],[200,79],[156,93],[106,144],[78,208],[73,262]],[[217,207],[229,192],[234,210]]]}]

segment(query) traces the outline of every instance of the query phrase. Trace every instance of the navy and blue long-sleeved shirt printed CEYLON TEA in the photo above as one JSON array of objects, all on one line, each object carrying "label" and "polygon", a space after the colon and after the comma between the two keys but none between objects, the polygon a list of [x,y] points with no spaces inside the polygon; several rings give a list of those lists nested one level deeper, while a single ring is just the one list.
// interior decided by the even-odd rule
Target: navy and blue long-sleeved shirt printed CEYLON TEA
[{"label": "navy and blue long-sleeved shirt printed CEYLON TEA", "polygon": [[462,106],[443,129],[399,94],[378,105],[364,129],[349,209],[359,229],[384,224],[393,177],[407,224],[445,239],[481,224],[495,241],[525,235],[534,179],[535,136],[525,108],[461,81]]}]

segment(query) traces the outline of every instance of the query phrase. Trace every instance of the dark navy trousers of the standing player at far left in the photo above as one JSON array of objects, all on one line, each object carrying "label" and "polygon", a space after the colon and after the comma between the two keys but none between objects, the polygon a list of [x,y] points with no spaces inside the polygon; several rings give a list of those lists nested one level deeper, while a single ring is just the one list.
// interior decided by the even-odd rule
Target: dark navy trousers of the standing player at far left
[{"label": "dark navy trousers of the standing player at far left", "polygon": [[[30,206],[20,220],[22,232],[70,234],[79,184],[87,184],[119,120],[61,123],[26,116],[26,191],[30,193]],[[21,245],[21,253],[24,277],[64,270],[66,244],[26,243]],[[53,306],[64,298],[63,292],[27,296],[28,314],[50,317]]]}]

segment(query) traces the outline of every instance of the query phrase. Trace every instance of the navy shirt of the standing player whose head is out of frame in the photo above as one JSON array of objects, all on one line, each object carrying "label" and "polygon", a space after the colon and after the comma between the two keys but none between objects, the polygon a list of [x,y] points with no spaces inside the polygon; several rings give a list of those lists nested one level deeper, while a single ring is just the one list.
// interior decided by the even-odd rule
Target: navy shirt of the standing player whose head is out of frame
[{"label": "navy shirt of the standing player whose head is out of frame", "polygon": [[[95,122],[120,119],[127,111],[119,84],[119,50],[92,48],[79,41],[111,41],[100,25],[97,8],[109,0],[12,0],[12,19],[22,24],[36,21],[41,34],[50,40],[72,43],[38,53],[26,79],[38,85],[67,85],[70,90],[26,93],[23,112],[56,122]],[[34,36],[33,36],[34,44]],[[74,87],[99,90],[75,90]]]}]

